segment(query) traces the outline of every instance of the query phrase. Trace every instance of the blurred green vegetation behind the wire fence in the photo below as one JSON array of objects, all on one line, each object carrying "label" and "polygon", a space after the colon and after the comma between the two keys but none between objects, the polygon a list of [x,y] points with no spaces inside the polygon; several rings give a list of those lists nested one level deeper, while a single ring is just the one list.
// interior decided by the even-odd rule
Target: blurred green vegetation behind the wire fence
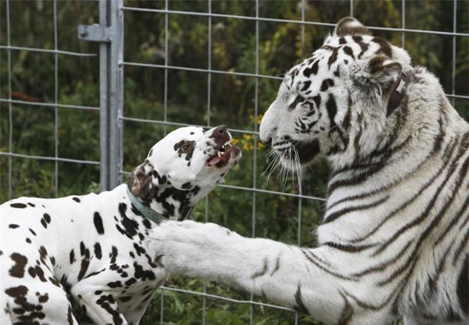
[{"label": "blurred green vegetation behind the wire fence", "polygon": [[[468,1],[456,1],[456,32],[469,33]],[[164,9],[165,1],[125,1],[133,8]],[[304,4],[304,8],[303,8]],[[453,1],[405,1],[405,27],[425,31],[453,31]],[[353,1],[354,16],[367,26],[402,27],[402,1]],[[168,1],[170,10],[211,12],[223,15],[256,15],[256,1],[216,0]],[[0,46],[54,49],[54,3],[52,1],[10,1],[10,29],[7,30],[6,1],[0,1]],[[145,63],[282,76],[322,44],[329,26],[297,24],[290,21],[335,24],[350,13],[349,1],[267,1],[258,2],[259,17],[287,19],[289,22],[258,23],[258,66],[256,67],[256,22],[236,17],[168,15],[167,58],[165,57],[165,14],[124,12],[126,63]],[[98,53],[98,45],[77,38],[79,24],[97,23],[97,1],[57,2],[57,46],[63,51]],[[211,61],[208,42],[211,35]],[[402,45],[398,31],[374,31],[393,44]],[[452,93],[451,35],[405,33],[405,48],[415,65],[425,65],[440,79],[445,91]],[[99,107],[99,57],[59,54],[55,70],[54,53],[11,50],[11,74],[8,50],[0,49],[0,98],[23,101]],[[456,37],[454,93],[469,94],[469,38]],[[294,244],[314,245],[312,234],[320,218],[322,201],[249,188],[298,193],[298,186],[274,172],[263,174],[268,167],[268,151],[252,135],[263,113],[277,94],[280,81],[235,74],[211,74],[184,69],[165,69],[126,65],[124,68],[124,116],[138,119],[216,126],[227,124],[243,149],[244,158],[208,200],[201,202],[192,217],[217,222],[242,235],[262,236]],[[8,83],[11,83],[9,92]],[[208,84],[210,82],[210,84]],[[208,96],[210,88],[210,96]],[[165,101],[166,96],[166,101]],[[459,113],[469,119],[469,101],[452,99]],[[166,103],[166,104],[165,104]],[[166,110],[165,110],[166,107]],[[10,110],[11,108],[11,110]],[[208,108],[210,108],[208,110]],[[10,115],[11,112],[11,115]],[[54,131],[55,121],[58,129]],[[140,164],[147,151],[172,126],[158,123],[124,121],[124,181],[126,172]],[[243,133],[242,131],[248,131]],[[11,133],[10,133],[11,132]],[[10,147],[11,137],[11,147]],[[51,156],[58,145],[58,156],[99,161],[99,111],[13,104],[0,105],[0,151],[26,155]],[[11,158],[0,155],[0,203],[8,200],[8,174],[11,173],[13,197],[54,197],[84,194],[99,190],[99,165],[58,163]],[[302,192],[308,197],[324,197],[328,167],[324,160],[305,172]],[[56,179],[57,178],[57,179]],[[58,186],[56,188],[56,181]],[[214,261],[216,263],[216,261]],[[215,283],[172,278],[169,287],[208,292],[231,299],[252,299],[245,292],[230,290]],[[261,301],[254,297],[254,301]],[[249,303],[231,303],[206,299],[201,295],[161,290],[151,303],[142,324],[318,324],[311,317],[288,310]]]}]

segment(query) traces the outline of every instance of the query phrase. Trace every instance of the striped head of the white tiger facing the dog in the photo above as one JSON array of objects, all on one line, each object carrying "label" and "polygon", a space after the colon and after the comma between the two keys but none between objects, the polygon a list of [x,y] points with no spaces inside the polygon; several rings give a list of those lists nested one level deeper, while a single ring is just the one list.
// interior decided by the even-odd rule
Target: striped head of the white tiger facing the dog
[{"label": "striped head of the white tiger facing the dog", "polygon": [[375,150],[386,133],[388,106],[411,58],[346,17],[310,58],[286,74],[265,113],[261,140],[283,167],[308,165],[319,153],[337,166]]}]

